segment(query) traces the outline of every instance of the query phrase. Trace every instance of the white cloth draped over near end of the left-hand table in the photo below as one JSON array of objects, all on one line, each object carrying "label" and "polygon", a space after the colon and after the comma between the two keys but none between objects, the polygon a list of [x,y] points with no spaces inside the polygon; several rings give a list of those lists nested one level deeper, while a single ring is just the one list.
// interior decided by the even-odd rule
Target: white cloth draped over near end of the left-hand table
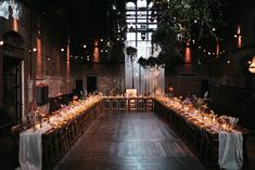
[{"label": "white cloth draped over near end of the left-hand table", "polygon": [[20,168],[18,170],[41,170],[42,142],[41,134],[50,130],[51,126],[42,123],[42,128],[35,131],[28,129],[20,134]]}]

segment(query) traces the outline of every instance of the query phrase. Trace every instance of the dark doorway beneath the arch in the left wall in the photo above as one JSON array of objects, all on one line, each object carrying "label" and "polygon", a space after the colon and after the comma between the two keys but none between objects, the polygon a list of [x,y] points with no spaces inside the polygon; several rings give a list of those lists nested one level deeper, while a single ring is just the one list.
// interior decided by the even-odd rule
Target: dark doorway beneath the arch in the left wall
[{"label": "dark doorway beneath the arch in the left wall", "polygon": [[12,123],[22,121],[22,70],[21,60],[3,57],[3,110]]}]

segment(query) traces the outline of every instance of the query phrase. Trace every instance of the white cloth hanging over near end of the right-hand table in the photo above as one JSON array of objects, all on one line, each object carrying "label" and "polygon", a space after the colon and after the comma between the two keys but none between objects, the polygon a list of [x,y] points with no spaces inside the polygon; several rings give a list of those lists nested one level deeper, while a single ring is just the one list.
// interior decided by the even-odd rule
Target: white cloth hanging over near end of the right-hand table
[{"label": "white cloth hanging over near end of the right-hand table", "polygon": [[243,135],[241,132],[219,132],[219,167],[226,170],[239,170],[243,165]]}]

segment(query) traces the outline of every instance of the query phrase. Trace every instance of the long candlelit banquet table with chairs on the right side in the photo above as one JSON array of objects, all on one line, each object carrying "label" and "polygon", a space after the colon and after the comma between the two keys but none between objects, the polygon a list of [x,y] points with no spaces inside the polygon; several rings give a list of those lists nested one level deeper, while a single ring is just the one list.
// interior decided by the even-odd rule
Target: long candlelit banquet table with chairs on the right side
[{"label": "long candlelit banquet table with chairs on the right side", "polygon": [[214,129],[158,99],[154,101],[154,112],[182,138],[202,160],[227,170],[238,170],[246,166],[247,130],[240,127],[235,127],[231,131]]}]

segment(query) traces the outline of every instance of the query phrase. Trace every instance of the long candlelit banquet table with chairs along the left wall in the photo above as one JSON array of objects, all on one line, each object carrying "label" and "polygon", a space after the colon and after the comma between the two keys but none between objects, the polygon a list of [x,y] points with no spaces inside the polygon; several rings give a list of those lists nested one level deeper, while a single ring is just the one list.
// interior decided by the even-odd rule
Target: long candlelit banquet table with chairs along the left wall
[{"label": "long candlelit banquet table with chairs along the left wall", "polygon": [[23,131],[20,134],[20,169],[53,169],[101,112],[102,99],[95,99],[77,113],[60,118],[58,125],[44,121],[37,130]]}]

